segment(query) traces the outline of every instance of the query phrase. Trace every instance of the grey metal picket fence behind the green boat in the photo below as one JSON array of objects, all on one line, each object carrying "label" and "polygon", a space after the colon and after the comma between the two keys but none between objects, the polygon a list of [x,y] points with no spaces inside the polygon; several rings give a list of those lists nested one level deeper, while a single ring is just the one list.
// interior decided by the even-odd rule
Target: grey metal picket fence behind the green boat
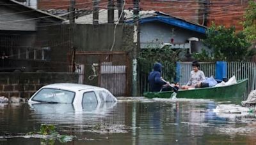
[{"label": "grey metal picket fence behind the green boat", "polygon": [[[191,62],[177,62],[176,65],[176,78],[179,80],[180,85],[185,85],[189,80],[189,75],[192,70]],[[205,76],[216,75],[215,62],[200,62],[200,69],[204,71]],[[164,71],[164,70],[163,70]],[[164,74],[164,72],[163,72]],[[148,74],[140,74],[141,92],[148,91]],[[227,62],[227,78],[236,76],[236,79],[248,78],[248,84],[244,97],[256,89],[256,63],[255,62]]]}]

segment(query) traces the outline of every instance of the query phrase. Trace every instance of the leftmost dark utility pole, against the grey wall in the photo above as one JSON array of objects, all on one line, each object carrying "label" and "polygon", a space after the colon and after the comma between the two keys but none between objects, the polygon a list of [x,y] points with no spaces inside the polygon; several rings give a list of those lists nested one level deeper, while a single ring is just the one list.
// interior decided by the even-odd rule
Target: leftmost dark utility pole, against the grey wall
[{"label": "leftmost dark utility pole, against the grey wall", "polygon": [[74,25],[75,25],[75,4],[76,0],[70,0],[70,6],[68,8],[69,15],[69,24],[70,24],[70,44],[71,44],[71,51],[72,51],[72,58],[71,58],[71,72],[76,71],[76,65],[75,65],[75,58],[76,58],[76,48],[74,47]]}]

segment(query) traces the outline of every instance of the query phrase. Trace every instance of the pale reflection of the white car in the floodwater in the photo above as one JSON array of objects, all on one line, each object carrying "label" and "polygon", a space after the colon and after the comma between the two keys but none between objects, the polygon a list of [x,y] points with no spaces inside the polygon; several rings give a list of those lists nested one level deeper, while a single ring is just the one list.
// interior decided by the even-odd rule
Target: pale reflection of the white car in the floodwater
[{"label": "pale reflection of the white car in the floodwater", "polygon": [[115,102],[84,104],[30,104],[31,117],[40,123],[76,124],[106,118]]}]

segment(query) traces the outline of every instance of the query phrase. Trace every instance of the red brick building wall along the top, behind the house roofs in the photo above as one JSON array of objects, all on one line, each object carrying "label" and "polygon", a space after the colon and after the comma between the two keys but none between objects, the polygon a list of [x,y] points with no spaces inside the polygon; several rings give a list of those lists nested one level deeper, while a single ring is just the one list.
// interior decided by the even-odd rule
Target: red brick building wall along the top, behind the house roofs
[{"label": "red brick building wall along the top, behind the house roofs", "polygon": [[[92,10],[92,1],[76,0],[77,8]],[[67,10],[69,1],[38,1],[38,8],[42,10],[65,9]],[[100,1],[99,8],[107,8],[108,1]],[[141,10],[162,11],[168,15],[180,17],[190,22],[211,26],[212,22],[217,25],[230,27],[235,25],[238,30],[243,29],[239,22],[242,20],[244,10],[248,5],[248,0],[141,0]],[[132,10],[133,1],[127,0],[125,9]]]}]

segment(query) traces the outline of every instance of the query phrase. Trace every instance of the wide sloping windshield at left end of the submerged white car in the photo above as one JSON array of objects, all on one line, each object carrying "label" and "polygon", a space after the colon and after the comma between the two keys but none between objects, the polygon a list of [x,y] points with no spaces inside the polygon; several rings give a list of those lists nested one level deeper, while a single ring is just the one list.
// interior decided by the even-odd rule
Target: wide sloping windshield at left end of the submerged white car
[{"label": "wide sloping windshield at left end of the submerged white car", "polygon": [[75,92],[67,90],[43,88],[40,92],[36,93],[32,100],[49,103],[72,103],[75,94]]}]

